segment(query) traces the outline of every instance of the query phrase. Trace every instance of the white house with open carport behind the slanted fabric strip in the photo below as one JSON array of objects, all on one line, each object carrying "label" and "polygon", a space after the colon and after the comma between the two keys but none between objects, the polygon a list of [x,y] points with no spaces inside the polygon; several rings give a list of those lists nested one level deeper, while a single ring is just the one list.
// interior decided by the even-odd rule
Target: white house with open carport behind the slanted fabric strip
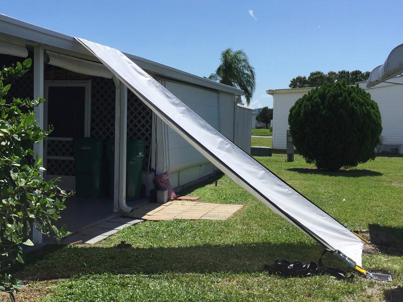
[{"label": "white house with open carport behind the slanted fabric strip", "polygon": [[[135,55],[126,56],[227,138],[250,150],[251,120],[240,118],[238,108],[242,90]],[[114,173],[114,211],[131,209],[122,192],[126,140],[147,142],[143,196],[153,188],[155,173],[168,173],[177,188],[215,172],[204,156],[128,91],[74,37],[0,15],[0,63],[8,65],[26,57],[32,58],[31,69],[13,85],[10,96],[46,99],[45,105],[37,108],[36,118],[41,127],[53,124],[55,130],[46,141],[35,145],[35,152],[44,159],[45,178],[61,177],[62,188],[75,189],[73,141],[81,137],[111,141],[114,146],[114,164],[109,167]],[[239,131],[239,127],[247,131]]]}]

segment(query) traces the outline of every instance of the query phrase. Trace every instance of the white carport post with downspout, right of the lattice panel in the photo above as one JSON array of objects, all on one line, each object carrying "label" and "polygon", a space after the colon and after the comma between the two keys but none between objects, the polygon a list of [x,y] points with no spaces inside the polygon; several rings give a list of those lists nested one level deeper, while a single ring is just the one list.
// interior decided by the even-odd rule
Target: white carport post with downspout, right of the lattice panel
[{"label": "white carport post with downspout, right of the lattice panel", "polygon": [[127,87],[115,77],[115,163],[113,211],[130,212],[126,204]]}]

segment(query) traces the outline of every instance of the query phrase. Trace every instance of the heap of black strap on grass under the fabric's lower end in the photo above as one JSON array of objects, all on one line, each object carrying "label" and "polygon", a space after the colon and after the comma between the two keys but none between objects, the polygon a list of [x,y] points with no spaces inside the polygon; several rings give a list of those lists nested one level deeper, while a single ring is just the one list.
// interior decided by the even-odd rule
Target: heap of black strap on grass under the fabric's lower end
[{"label": "heap of black strap on grass under the fabric's lower end", "polygon": [[276,260],[273,265],[264,265],[264,270],[270,274],[279,274],[283,277],[309,277],[319,274],[329,274],[338,280],[353,279],[354,274],[347,275],[341,269],[333,267],[325,267],[322,262],[322,257],[330,250],[325,249],[318,260],[318,264],[310,262],[302,264],[299,261],[290,262],[288,260]]}]

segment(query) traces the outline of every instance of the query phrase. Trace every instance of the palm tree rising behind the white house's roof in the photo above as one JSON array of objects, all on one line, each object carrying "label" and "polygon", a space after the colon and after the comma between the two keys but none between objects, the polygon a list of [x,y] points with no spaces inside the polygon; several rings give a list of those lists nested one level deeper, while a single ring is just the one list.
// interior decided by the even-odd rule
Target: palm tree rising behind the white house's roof
[{"label": "palm tree rising behind the white house's roof", "polygon": [[243,50],[233,51],[227,48],[221,53],[221,63],[209,79],[222,84],[236,87],[244,91],[246,104],[249,105],[255,91],[255,70]]}]

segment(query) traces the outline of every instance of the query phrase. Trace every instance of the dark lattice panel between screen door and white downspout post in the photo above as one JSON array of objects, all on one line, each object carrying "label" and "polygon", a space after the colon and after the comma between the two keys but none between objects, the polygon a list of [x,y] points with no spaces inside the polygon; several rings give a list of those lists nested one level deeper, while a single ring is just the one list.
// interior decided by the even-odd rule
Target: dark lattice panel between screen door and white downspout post
[{"label": "dark lattice panel between screen door and white downspout post", "polygon": [[91,80],[91,136],[115,137],[115,84],[113,80]]}]

